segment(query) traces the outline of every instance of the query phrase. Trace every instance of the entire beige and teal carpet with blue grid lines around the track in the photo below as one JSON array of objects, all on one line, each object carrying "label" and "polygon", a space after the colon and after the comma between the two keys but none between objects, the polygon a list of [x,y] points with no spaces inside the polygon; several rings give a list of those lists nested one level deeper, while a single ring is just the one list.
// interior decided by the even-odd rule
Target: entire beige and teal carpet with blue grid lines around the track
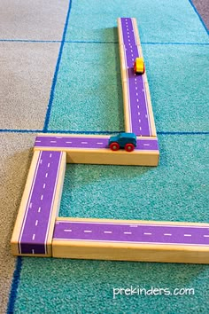
[{"label": "entire beige and teal carpet with blue grid lines around the track", "polygon": [[[209,266],[15,258],[38,132],[124,129],[116,19],[135,17],[158,168],[67,165],[59,216],[209,223],[209,7],[194,0],[0,0],[0,313],[209,311]],[[116,295],[114,288],[193,288]]]}]

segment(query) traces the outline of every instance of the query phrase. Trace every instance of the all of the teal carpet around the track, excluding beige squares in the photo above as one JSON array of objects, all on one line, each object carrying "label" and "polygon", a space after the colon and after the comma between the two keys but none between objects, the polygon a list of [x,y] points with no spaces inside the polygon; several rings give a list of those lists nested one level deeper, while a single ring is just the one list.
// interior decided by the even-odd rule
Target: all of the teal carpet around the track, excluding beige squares
[{"label": "all of the teal carpet around the track, excluding beige squares", "polygon": [[[209,223],[209,41],[190,1],[73,0],[44,130],[123,130],[116,19],[124,16],[137,19],[143,43],[159,167],[67,165],[59,216]],[[195,294],[113,299],[120,287]],[[206,314],[209,266],[19,258],[12,311]]]}]

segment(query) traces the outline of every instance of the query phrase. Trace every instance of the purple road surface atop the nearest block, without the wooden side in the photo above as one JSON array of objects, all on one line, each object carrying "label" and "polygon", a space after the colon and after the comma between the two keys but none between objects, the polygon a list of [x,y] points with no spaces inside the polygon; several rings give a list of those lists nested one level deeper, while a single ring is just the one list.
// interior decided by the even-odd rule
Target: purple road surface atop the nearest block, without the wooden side
[{"label": "purple road surface atop the nearest block, without the wooden side", "polygon": [[58,221],[53,239],[209,246],[209,225],[199,227]]}]

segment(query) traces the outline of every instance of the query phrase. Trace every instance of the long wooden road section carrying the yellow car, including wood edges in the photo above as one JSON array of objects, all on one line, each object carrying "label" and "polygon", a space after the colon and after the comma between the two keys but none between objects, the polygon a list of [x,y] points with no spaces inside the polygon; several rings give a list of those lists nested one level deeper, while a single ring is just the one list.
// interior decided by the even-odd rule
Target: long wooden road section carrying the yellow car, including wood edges
[{"label": "long wooden road section carrying the yellow car, including wood edges", "polygon": [[156,137],[147,76],[134,72],[135,59],[143,57],[136,21],[122,18],[118,19],[118,25],[124,108],[128,113],[126,130],[136,136]]}]

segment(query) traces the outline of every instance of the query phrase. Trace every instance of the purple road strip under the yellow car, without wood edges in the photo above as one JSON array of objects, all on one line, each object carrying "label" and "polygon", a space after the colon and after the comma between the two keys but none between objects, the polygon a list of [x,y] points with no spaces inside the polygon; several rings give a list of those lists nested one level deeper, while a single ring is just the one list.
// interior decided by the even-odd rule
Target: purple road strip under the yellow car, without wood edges
[{"label": "purple road strip under the yellow car, without wood edges", "polygon": [[142,56],[136,45],[132,19],[121,18],[120,21],[127,68],[130,131],[134,132],[136,136],[149,137],[152,134],[144,76],[134,73],[135,58]]}]

